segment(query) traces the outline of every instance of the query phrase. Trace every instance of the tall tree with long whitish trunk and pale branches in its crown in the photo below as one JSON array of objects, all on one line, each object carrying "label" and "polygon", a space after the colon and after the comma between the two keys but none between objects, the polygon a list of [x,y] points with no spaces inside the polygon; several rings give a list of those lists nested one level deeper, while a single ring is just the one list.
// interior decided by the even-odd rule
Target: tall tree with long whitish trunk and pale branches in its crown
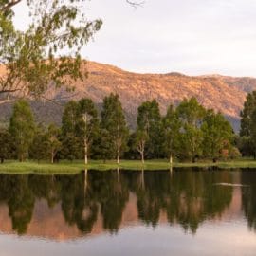
[{"label": "tall tree with long whitish trunk and pale branches in its crown", "polygon": [[90,146],[99,130],[97,109],[90,99],[79,101],[78,133],[82,139],[84,163],[88,163]]}]

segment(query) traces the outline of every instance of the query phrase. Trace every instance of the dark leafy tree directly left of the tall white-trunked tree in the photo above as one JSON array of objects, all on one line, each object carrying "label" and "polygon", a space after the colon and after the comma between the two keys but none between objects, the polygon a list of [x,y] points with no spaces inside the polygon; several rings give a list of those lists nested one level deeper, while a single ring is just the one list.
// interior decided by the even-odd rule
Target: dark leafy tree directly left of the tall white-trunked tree
[{"label": "dark leafy tree directly left of the tall white-trunked tree", "polygon": [[62,155],[64,158],[74,160],[80,157],[80,141],[77,136],[79,120],[79,104],[69,101],[64,106],[62,119]]}]

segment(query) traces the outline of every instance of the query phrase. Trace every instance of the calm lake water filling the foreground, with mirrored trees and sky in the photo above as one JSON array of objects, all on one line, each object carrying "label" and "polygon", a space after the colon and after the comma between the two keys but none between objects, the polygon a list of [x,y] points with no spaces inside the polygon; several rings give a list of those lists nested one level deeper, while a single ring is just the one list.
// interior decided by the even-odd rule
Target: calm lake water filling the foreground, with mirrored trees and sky
[{"label": "calm lake water filling the foreground, with mirrored trees and sky", "polygon": [[256,255],[256,170],[0,175],[0,255]]}]

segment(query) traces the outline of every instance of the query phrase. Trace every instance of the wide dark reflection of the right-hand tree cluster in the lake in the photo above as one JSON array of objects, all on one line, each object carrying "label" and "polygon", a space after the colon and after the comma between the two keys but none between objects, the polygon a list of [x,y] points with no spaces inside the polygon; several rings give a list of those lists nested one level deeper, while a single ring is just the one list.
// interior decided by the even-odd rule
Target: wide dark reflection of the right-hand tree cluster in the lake
[{"label": "wide dark reflection of the right-hand tree cluster in the lake", "polygon": [[137,193],[138,216],[147,225],[155,227],[160,213],[166,212],[170,224],[179,223],[194,233],[201,222],[219,216],[229,207],[232,188],[213,185],[218,182],[231,182],[230,174],[190,170],[142,172],[130,184]]}]

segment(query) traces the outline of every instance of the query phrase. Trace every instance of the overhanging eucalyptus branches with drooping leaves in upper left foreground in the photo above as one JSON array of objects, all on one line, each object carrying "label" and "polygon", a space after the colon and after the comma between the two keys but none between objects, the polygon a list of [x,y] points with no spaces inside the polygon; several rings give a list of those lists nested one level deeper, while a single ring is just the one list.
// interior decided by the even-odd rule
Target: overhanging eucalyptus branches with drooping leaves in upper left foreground
[{"label": "overhanging eucalyptus branches with drooping leaves in upper left foreground", "polygon": [[30,20],[21,31],[13,25],[13,8],[22,2],[0,1],[0,103],[46,99],[52,85],[71,89],[71,81],[86,77],[82,46],[101,28],[101,20],[85,18],[85,0],[27,0]]}]

